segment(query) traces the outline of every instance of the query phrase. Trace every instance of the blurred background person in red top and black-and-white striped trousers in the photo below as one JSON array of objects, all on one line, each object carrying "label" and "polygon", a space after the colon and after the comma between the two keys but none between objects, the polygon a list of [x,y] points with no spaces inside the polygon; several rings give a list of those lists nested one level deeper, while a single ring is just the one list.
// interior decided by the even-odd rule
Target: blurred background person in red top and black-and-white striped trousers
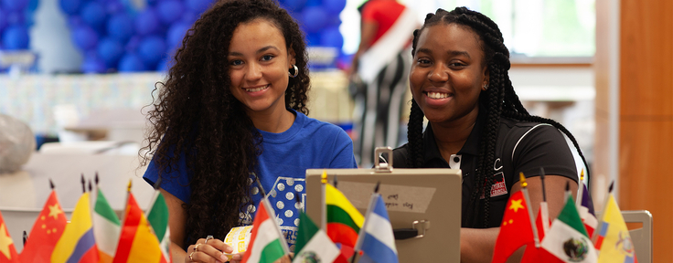
[{"label": "blurred background person in red top and black-and-white striped trousers", "polygon": [[371,166],[376,147],[399,145],[400,119],[407,109],[409,36],[419,25],[415,13],[395,0],[369,0],[358,9],[360,45],[349,72],[361,87],[353,90],[353,130],[358,163]]}]

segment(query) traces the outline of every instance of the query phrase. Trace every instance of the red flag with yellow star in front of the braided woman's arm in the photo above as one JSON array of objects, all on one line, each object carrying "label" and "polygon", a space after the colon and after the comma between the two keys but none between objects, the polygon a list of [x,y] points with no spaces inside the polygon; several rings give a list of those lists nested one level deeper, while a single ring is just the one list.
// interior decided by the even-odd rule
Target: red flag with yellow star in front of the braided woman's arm
[{"label": "red flag with yellow star in front of the braided woman's arm", "polygon": [[533,227],[530,225],[526,199],[523,192],[518,191],[507,201],[491,263],[505,262],[518,247],[533,242]]}]

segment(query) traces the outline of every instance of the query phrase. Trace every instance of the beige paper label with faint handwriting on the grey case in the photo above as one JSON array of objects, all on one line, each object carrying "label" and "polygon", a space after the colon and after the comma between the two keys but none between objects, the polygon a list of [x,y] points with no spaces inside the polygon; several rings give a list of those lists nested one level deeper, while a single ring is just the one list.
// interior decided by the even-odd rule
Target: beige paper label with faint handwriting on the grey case
[{"label": "beige paper label with faint handwriting on the grey case", "polygon": [[[375,184],[341,181],[338,185],[339,190],[355,207],[367,209]],[[432,187],[381,184],[379,194],[388,211],[425,213],[433,200],[435,190]]]}]

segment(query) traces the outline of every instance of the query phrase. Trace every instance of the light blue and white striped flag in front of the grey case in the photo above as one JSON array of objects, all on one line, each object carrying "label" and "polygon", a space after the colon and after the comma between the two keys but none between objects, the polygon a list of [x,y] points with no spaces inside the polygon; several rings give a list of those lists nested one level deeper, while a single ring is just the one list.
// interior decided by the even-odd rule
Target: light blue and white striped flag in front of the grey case
[{"label": "light blue and white striped flag in front of the grey case", "polygon": [[359,263],[398,263],[395,236],[392,234],[386,204],[379,194],[372,194],[364,226],[360,229],[356,250],[362,252]]}]

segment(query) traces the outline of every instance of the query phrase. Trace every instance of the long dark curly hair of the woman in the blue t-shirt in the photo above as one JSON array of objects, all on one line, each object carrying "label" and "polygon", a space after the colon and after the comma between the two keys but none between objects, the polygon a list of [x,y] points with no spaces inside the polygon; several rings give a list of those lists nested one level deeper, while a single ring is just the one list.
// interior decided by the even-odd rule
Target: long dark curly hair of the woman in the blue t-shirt
[{"label": "long dark curly hair of the woman in the blue t-shirt", "polygon": [[[262,153],[262,134],[231,94],[227,56],[234,29],[257,18],[279,28],[288,50],[294,50],[299,72],[289,79],[285,107],[308,114],[304,35],[278,3],[221,0],[197,20],[177,49],[165,81],[155,85],[158,97],[148,113],[152,127],[143,148],[147,152],[141,155],[143,164],[155,162],[159,177],[177,172],[179,158],[186,158],[191,179],[185,187],[193,191],[183,205],[185,247],[206,235],[225,237],[251,203],[249,178]],[[166,177],[162,179],[173,179]]]}]

